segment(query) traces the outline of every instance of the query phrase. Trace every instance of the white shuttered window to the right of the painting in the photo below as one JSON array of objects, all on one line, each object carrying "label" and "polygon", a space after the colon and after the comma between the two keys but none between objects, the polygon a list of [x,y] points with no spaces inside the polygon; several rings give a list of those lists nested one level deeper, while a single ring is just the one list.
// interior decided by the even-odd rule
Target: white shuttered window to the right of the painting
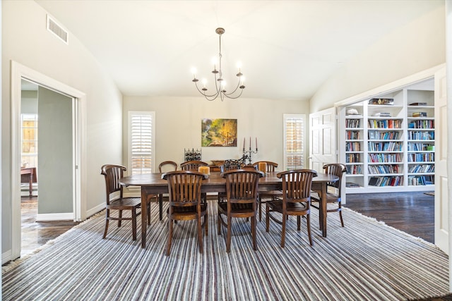
[{"label": "white shuttered window to the right of the painting", "polygon": [[284,114],[284,168],[304,168],[305,115]]}]

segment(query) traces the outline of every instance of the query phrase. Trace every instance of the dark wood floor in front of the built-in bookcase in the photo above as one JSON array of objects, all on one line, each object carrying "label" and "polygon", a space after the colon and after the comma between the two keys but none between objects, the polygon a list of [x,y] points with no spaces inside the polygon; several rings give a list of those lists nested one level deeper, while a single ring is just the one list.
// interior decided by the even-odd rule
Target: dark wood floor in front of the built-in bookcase
[{"label": "dark wood floor in front of the built-in bookcase", "polygon": [[434,196],[424,192],[346,195],[344,207],[434,243]]}]

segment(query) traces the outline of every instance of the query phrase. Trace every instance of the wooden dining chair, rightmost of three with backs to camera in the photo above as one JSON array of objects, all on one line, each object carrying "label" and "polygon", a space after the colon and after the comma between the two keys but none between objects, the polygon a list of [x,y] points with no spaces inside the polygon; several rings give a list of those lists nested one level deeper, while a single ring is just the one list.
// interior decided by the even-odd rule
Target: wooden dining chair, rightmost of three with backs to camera
[{"label": "wooden dining chair, rightmost of three with backs to camera", "polygon": [[[266,232],[270,228],[270,219],[283,225],[281,233],[281,247],[285,245],[285,228],[287,216],[297,216],[297,231],[301,228],[301,216],[306,217],[309,245],[313,245],[311,238],[311,185],[312,178],[317,172],[311,169],[294,169],[278,173],[283,180],[283,199],[266,203]],[[278,219],[273,213],[282,214]]]}]

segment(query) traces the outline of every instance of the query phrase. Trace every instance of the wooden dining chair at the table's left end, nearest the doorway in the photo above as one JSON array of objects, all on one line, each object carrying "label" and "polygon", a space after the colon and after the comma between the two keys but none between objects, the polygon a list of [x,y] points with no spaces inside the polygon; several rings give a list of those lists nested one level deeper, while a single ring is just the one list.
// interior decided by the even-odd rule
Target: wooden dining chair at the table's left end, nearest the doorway
[{"label": "wooden dining chair at the table's left end, nearest the doorway", "polygon": [[[137,209],[141,207],[141,198],[123,197],[124,186],[119,184],[119,179],[124,176],[124,171],[126,170],[127,168],[125,166],[113,164],[105,164],[101,167],[101,174],[105,176],[105,188],[107,192],[103,238],[107,237],[109,221],[118,221],[118,227],[121,226],[121,221],[132,221],[132,238],[136,240],[136,217],[141,214],[141,211],[137,212]],[[149,202],[146,209],[148,210],[148,224],[150,224]],[[112,216],[112,210],[118,211],[117,217]],[[131,217],[123,216],[122,211],[131,211]]]}]

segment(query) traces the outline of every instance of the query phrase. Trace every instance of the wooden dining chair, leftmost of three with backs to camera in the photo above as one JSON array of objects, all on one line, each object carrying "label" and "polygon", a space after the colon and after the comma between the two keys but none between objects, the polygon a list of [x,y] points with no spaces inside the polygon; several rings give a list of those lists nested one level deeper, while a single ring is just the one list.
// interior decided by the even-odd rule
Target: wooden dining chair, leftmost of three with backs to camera
[{"label": "wooden dining chair, leftmost of three with backs to camera", "polygon": [[[169,171],[162,175],[168,181],[169,205],[168,240],[166,255],[171,251],[173,221],[187,221],[196,219],[199,252],[203,253],[203,235],[208,234],[207,202],[201,197],[201,185],[204,174],[198,171]],[[203,217],[203,223],[201,218]]]}]

